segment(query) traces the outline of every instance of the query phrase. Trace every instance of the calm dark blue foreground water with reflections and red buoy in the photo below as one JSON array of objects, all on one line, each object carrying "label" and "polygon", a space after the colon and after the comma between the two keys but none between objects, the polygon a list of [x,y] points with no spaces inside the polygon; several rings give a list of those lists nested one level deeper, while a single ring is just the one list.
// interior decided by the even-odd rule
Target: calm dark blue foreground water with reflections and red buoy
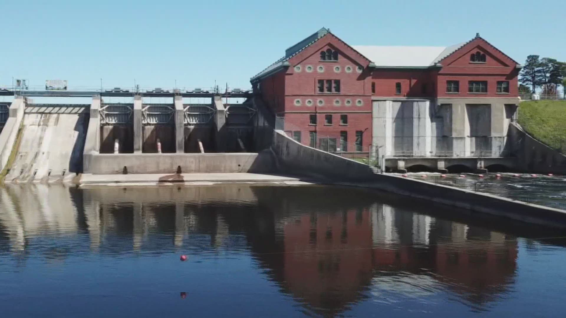
[{"label": "calm dark blue foreground water with reflections and red buoy", "polygon": [[458,214],[342,187],[8,187],[0,312],[564,316],[566,233]]}]

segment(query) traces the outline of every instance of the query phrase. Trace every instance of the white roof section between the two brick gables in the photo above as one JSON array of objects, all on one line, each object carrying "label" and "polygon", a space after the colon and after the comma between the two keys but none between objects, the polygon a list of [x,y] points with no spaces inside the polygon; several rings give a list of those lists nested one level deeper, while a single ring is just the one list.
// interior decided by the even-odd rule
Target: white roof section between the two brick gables
[{"label": "white roof section between the two brick gables", "polygon": [[461,44],[452,46],[376,46],[354,45],[353,48],[376,66],[431,66],[447,57]]}]

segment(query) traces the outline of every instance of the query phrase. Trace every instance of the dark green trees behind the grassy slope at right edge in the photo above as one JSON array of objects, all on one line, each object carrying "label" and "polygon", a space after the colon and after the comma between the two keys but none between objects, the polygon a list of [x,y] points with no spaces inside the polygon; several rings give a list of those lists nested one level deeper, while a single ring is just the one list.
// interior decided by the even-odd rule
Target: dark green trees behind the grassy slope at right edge
[{"label": "dark green trees behind the grassy slope at right edge", "polygon": [[541,88],[541,94],[555,95],[558,85],[566,87],[566,62],[529,55],[519,76],[519,94],[531,94]]}]

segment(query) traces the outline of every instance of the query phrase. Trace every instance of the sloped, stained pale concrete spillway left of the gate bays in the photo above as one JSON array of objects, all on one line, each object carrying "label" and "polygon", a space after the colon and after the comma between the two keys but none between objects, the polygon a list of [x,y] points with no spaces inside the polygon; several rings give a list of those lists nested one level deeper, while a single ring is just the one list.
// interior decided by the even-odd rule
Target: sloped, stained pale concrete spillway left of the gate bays
[{"label": "sloped, stained pale concrete spillway left of the gate bays", "polygon": [[82,173],[88,119],[88,105],[26,107],[5,182],[72,182]]}]

